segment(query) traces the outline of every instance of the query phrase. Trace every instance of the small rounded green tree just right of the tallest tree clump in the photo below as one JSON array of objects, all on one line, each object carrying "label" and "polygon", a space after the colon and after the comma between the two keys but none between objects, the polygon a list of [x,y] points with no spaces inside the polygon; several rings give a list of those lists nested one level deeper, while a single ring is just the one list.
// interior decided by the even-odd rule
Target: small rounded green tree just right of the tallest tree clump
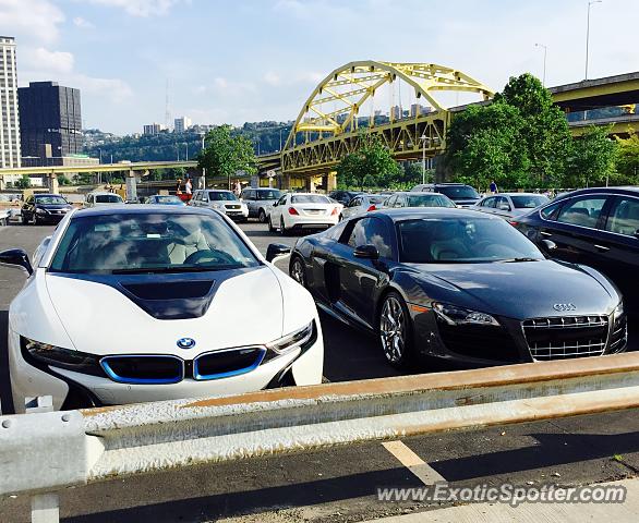
[{"label": "small rounded green tree just right of the tallest tree clump", "polygon": [[615,173],[618,145],[608,133],[608,126],[591,126],[575,139],[566,178],[569,186],[603,185]]}]

